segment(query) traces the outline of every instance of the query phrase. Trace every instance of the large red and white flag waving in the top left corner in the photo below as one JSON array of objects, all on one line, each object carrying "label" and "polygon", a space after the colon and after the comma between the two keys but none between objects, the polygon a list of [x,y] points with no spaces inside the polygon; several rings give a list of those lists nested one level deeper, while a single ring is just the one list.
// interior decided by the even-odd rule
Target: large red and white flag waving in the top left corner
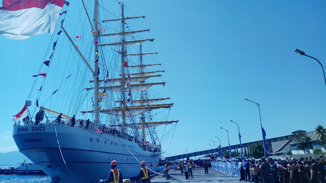
[{"label": "large red and white flag waving in the top left corner", "polygon": [[65,0],[2,0],[0,35],[27,39],[32,35],[53,34]]}]

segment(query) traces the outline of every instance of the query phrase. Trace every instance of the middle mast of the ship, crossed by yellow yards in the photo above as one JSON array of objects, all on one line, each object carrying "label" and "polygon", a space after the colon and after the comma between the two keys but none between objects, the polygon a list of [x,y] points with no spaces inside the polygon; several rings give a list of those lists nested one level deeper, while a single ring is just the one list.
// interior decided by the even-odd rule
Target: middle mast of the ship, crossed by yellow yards
[{"label": "middle mast of the ship, crossed by yellow yards", "polygon": [[126,106],[125,106],[125,22],[124,22],[124,13],[123,13],[123,4],[121,5],[122,8],[122,40],[121,40],[121,64],[122,64],[122,81],[121,81],[121,91],[122,91],[122,122],[123,122],[123,130],[126,131]]}]

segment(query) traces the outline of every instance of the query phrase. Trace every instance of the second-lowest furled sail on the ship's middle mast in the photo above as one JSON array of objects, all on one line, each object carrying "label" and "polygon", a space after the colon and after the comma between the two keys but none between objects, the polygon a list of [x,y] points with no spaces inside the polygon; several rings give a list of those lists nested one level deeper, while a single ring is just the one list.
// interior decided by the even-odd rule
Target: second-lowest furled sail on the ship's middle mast
[{"label": "second-lowest furled sail on the ship's middle mast", "polygon": [[[140,83],[140,84],[130,84],[129,87],[125,88],[125,92],[128,91],[141,91],[141,90],[145,90],[153,85],[163,85],[166,82],[160,82],[160,83]],[[85,88],[86,90],[92,90],[94,89],[94,87],[92,88]],[[100,90],[104,90],[104,87],[98,87],[98,89]],[[122,92],[121,89],[121,85],[115,85],[115,86],[106,86],[105,87],[106,90],[109,91],[114,91],[114,92]]]}]

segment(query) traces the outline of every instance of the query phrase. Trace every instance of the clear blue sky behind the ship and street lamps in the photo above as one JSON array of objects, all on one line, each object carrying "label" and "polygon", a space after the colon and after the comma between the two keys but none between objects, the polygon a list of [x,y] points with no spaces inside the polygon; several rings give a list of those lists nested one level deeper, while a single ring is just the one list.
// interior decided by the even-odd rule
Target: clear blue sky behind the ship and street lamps
[{"label": "clear blue sky behind the ship and street lamps", "polygon": [[[118,5],[111,1],[106,8],[118,15]],[[215,136],[227,146],[227,133],[220,127],[229,130],[231,145],[238,144],[238,129],[230,120],[239,124],[242,142],[261,140],[258,107],[244,98],[260,104],[267,138],[326,124],[321,67],[294,52],[303,50],[326,66],[325,4],[125,1],[134,15],[146,15],[142,26],[155,38],[150,51],[159,52],[155,60],[166,70],[165,89],[174,103],[173,117],[180,120],[170,146],[163,148],[171,155],[185,153],[185,148],[209,149]],[[71,3],[69,15],[77,14],[74,7],[80,5]],[[0,152],[17,149],[12,115],[28,96],[31,76],[37,74],[50,38],[43,34],[19,41],[0,36]],[[217,146],[218,139],[214,141]]]}]

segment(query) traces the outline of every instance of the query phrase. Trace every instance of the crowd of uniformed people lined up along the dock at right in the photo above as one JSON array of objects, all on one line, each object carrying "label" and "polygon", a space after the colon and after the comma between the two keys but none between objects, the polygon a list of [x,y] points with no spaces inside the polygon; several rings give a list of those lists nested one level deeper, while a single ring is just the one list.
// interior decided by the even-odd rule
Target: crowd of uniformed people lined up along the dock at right
[{"label": "crowd of uniformed people lined up along the dock at right", "polygon": [[263,183],[326,183],[325,157],[295,159],[261,158],[213,160],[212,168],[240,177],[239,181]]}]

